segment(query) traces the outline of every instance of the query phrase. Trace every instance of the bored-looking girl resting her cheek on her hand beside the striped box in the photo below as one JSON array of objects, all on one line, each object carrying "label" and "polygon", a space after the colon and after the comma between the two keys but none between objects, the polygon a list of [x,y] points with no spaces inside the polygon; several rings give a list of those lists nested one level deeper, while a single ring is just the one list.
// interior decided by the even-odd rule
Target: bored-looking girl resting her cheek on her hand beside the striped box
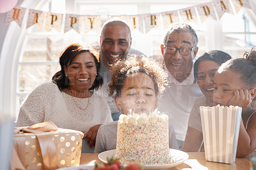
[{"label": "bored-looking girl resting her cheek on her hand beside the striped box", "polygon": [[221,65],[214,76],[213,100],[221,106],[241,106],[237,157],[246,157],[256,149],[256,109],[251,103],[256,94],[256,50],[244,58],[231,59]]}]

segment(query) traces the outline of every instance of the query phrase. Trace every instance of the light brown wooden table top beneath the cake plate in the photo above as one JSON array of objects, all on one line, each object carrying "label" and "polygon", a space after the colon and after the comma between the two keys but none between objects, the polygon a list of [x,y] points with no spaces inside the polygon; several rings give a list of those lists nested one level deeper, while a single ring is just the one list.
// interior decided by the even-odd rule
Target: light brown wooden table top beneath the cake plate
[{"label": "light brown wooden table top beneath the cake plate", "polygon": [[[82,153],[80,164],[94,164],[95,161],[101,162],[98,159],[99,153]],[[250,159],[252,157],[256,157],[256,152],[253,152],[252,154],[248,155],[246,158],[236,158],[236,162],[234,164],[223,164],[223,163],[217,163],[217,162],[209,162],[205,160],[204,152],[188,152],[189,159],[188,162],[192,162],[193,169],[218,169],[218,170],[226,170],[226,169],[250,169]],[[199,164],[197,163],[199,162]],[[196,166],[198,164],[198,166]],[[192,169],[187,164],[180,164],[179,166],[169,168],[172,170],[176,169]]]}]

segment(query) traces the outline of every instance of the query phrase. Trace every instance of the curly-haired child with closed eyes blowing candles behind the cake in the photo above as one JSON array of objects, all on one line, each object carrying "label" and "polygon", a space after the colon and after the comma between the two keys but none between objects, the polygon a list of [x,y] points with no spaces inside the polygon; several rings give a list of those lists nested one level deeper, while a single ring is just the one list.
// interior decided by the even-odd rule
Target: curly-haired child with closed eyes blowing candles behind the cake
[{"label": "curly-haired child with closed eyes blowing candles behind the cake", "polygon": [[[156,110],[159,96],[168,85],[168,74],[154,59],[133,55],[119,60],[111,67],[113,75],[109,84],[109,96],[115,98],[120,113],[147,113]],[[117,121],[100,127],[95,153],[116,148]],[[173,126],[169,124],[169,146],[178,149]]]}]

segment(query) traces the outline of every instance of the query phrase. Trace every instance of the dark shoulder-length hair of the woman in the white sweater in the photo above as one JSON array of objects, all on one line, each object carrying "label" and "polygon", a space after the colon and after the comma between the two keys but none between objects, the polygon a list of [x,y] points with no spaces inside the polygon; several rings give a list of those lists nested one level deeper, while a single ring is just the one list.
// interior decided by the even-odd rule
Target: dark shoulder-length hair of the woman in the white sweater
[{"label": "dark shoulder-length hair of the woman in the white sweater", "polygon": [[97,90],[103,83],[102,76],[99,74],[100,61],[99,61],[99,52],[95,50],[92,46],[82,45],[79,43],[74,43],[69,45],[60,56],[60,66],[61,70],[52,76],[52,81],[58,85],[58,88],[61,92],[63,89],[69,87],[68,78],[65,75],[64,66],[68,67],[72,61],[76,58],[77,55],[83,52],[90,52],[93,55],[96,67],[97,67],[97,76],[93,82],[92,87],[89,90]]}]

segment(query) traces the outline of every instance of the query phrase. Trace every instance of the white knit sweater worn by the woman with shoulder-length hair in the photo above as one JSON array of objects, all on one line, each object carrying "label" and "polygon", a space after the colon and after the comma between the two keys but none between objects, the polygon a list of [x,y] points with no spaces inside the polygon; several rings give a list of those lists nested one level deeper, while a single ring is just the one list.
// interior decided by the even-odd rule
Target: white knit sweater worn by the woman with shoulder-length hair
[{"label": "white knit sweater worn by the woman with shoulder-length hair", "polygon": [[[81,108],[85,108],[88,98],[74,97]],[[57,127],[74,129],[86,133],[97,124],[112,122],[108,103],[93,94],[86,110],[77,108],[72,96],[61,92],[53,82],[43,83],[29,94],[20,108],[17,126],[29,126],[51,120]]]}]

